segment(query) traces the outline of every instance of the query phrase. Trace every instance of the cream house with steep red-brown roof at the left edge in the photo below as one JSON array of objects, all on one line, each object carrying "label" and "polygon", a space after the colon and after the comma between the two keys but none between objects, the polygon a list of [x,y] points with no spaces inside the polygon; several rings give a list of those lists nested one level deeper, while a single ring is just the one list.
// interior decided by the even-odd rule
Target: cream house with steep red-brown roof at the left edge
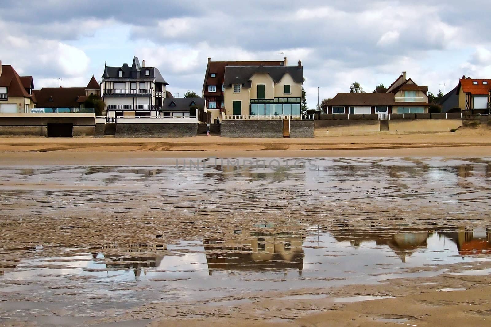
[{"label": "cream house with steep red-brown roof at the left edge", "polygon": [[28,113],[34,108],[32,76],[19,76],[11,65],[0,61],[0,113]]}]

